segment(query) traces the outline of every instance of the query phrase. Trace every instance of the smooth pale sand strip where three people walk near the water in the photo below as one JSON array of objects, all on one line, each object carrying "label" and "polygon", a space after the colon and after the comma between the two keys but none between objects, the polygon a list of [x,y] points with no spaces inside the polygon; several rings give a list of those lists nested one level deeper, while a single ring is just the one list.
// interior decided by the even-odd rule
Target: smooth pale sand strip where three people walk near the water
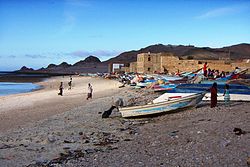
[{"label": "smooth pale sand strip where three people walk near the water", "polygon": [[[69,77],[54,77],[38,83],[45,89],[0,97],[0,132],[84,105],[89,82],[93,85],[94,99],[113,94],[119,84],[100,78],[73,77],[73,88],[68,90],[68,81]],[[60,82],[64,82],[63,96],[57,95]]]}]

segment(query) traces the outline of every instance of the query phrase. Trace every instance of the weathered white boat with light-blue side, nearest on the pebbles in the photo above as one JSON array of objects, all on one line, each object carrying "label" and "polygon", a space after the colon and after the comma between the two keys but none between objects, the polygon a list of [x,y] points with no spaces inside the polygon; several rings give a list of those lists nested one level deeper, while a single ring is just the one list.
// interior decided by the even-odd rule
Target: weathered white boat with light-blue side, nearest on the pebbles
[{"label": "weathered white boat with light-blue side, nearest on the pebbles", "polygon": [[204,95],[205,92],[202,92],[172,101],[164,101],[143,106],[123,107],[120,108],[120,112],[122,117],[139,117],[167,113],[177,109],[194,107],[201,102]]}]

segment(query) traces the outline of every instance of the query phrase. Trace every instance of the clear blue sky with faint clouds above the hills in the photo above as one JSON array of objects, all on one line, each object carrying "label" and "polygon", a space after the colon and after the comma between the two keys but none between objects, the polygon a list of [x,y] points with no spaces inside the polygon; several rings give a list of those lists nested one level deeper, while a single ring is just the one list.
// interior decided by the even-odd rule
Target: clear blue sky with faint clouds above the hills
[{"label": "clear blue sky with faint clouds above the hills", "polygon": [[0,0],[0,71],[160,43],[250,43],[250,0]]}]

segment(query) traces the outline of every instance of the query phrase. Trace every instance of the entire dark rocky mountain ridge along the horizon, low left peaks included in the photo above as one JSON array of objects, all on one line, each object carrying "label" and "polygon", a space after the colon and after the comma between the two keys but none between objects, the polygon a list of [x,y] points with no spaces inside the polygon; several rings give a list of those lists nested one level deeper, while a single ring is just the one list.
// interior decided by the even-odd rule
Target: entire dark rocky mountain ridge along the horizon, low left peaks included
[{"label": "entire dark rocky mountain ridge along the horizon, low left peaks included", "polygon": [[123,52],[115,57],[101,62],[96,56],[90,55],[84,60],[80,60],[73,65],[67,62],[62,62],[59,65],[49,64],[46,68],[33,70],[29,68],[22,68],[19,71],[40,71],[40,72],[108,72],[108,64],[110,63],[131,63],[137,60],[139,53],[173,53],[180,59],[250,59],[250,44],[240,43],[222,48],[210,47],[195,47],[193,45],[150,45],[139,50],[131,50]]}]

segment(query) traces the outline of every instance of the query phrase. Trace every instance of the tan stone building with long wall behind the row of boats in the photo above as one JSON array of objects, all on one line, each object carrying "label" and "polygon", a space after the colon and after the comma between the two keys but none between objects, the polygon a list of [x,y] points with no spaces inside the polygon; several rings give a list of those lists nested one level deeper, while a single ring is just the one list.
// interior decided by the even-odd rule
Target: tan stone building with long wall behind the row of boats
[{"label": "tan stone building with long wall behind the row of boats", "polygon": [[172,53],[141,53],[137,61],[123,68],[125,72],[137,73],[176,73],[177,71],[195,71],[207,62],[210,69],[233,71],[236,67],[250,68],[250,60],[182,60]]}]

